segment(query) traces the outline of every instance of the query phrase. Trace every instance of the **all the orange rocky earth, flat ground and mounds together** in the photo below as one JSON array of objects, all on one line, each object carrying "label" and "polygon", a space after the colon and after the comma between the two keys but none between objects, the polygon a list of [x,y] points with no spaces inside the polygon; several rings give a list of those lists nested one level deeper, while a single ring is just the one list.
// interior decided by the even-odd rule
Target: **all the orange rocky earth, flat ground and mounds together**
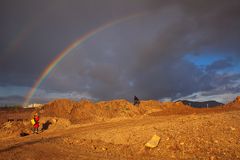
[{"label": "all the orange rocky earth, flat ground and mounds together", "polygon": [[[31,133],[35,112],[39,134]],[[14,114],[18,121],[5,122],[8,114],[1,115],[0,159],[240,159],[240,97],[214,108],[60,99]],[[160,137],[157,146],[146,147],[154,135]]]}]

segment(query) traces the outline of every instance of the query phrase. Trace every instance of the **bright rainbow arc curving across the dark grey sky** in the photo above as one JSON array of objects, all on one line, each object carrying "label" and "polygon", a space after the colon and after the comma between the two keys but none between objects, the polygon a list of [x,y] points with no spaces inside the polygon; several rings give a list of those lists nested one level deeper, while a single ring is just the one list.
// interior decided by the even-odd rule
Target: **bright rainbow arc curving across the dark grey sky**
[{"label": "bright rainbow arc curving across the dark grey sky", "polygon": [[32,88],[30,89],[30,91],[26,94],[25,96],[25,100],[23,103],[23,106],[27,106],[30,102],[30,100],[32,99],[33,95],[35,94],[35,92],[37,91],[37,88],[41,85],[41,83],[46,79],[46,77],[48,76],[48,74],[58,65],[58,63],[68,54],[71,53],[71,51],[73,49],[75,49],[77,46],[81,45],[82,43],[84,43],[85,41],[87,41],[88,39],[92,38],[93,36],[95,36],[97,33],[102,32],[106,29],[109,29],[111,27],[114,27],[118,24],[121,24],[123,22],[126,22],[128,20],[134,19],[136,17],[140,17],[145,15],[146,13],[138,13],[138,14],[134,14],[134,15],[130,15],[124,18],[120,18],[111,22],[108,22],[86,34],[84,34],[83,36],[81,36],[80,38],[78,38],[77,40],[75,40],[73,43],[71,43],[68,47],[66,47],[62,52],[60,52],[51,63],[48,64],[48,66],[43,70],[43,72],[40,74],[39,78],[37,78],[37,80],[35,81],[35,83],[33,84]]}]

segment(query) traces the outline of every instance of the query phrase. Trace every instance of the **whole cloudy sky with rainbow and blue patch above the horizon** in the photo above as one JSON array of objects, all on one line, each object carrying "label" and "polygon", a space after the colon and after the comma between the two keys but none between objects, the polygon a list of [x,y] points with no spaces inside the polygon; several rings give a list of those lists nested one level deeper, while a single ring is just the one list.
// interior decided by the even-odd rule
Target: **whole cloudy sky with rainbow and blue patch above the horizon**
[{"label": "whole cloudy sky with rainbow and blue patch above the horizon", "polygon": [[239,0],[1,0],[0,104],[232,101],[239,8]]}]

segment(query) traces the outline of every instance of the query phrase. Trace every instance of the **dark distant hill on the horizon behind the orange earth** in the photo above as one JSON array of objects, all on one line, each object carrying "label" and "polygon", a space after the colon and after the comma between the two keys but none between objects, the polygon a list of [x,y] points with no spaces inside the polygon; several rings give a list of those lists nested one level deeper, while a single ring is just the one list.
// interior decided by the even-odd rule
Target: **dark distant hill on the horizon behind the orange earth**
[{"label": "dark distant hill on the horizon behind the orange earth", "polygon": [[179,100],[177,102],[182,102],[185,105],[189,105],[194,108],[208,108],[208,107],[217,107],[224,105],[223,103],[217,101],[204,101],[204,102],[196,102],[196,101],[188,101],[188,100]]}]

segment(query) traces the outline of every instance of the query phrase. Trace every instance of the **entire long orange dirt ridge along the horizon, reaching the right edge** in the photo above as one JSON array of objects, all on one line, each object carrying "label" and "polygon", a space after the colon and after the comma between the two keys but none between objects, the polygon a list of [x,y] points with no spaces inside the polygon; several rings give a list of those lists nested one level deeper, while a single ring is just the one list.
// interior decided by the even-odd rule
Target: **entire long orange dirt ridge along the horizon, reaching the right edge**
[{"label": "entire long orange dirt ridge along the horizon, reaching the right edge", "polygon": [[58,99],[43,106],[40,113],[42,116],[69,119],[72,123],[89,123],[139,115],[166,116],[223,112],[237,109],[239,106],[240,96],[225,106],[214,108],[193,108],[182,102],[160,102],[156,100],[142,100],[140,105],[134,106],[124,99],[97,103],[89,100],[76,102],[68,99]]}]

